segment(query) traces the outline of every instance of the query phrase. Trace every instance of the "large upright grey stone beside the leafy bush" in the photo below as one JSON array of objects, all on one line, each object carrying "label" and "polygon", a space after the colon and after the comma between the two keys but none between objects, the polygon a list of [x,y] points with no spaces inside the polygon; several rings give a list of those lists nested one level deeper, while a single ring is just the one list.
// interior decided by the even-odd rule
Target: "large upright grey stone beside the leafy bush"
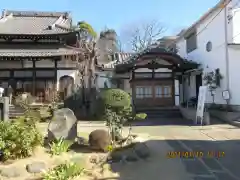
[{"label": "large upright grey stone beside the leafy bush", "polygon": [[60,138],[74,141],[77,137],[77,118],[68,108],[58,109],[48,125],[48,140]]}]

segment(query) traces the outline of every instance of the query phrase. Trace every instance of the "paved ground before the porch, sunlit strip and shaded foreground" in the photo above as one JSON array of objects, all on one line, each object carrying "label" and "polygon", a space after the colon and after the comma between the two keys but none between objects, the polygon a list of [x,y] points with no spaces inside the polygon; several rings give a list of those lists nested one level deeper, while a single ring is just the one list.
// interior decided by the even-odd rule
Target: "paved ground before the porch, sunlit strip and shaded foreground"
[{"label": "paved ground before the porch, sunlit strip and shaded foreground", "polygon": [[[214,125],[203,127],[191,126],[183,119],[166,121],[161,119],[148,125],[143,122],[133,127],[133,133],[149,139],[147,145],[153,150],[154,159],[122,165],[118,168],[119,180],[240,180],[239,128],[216,119]],[[99,123],[80,123],[79,126],[85,130],[103,127]],[[203,157],[169,158],[169,152],[202,153]]]}]

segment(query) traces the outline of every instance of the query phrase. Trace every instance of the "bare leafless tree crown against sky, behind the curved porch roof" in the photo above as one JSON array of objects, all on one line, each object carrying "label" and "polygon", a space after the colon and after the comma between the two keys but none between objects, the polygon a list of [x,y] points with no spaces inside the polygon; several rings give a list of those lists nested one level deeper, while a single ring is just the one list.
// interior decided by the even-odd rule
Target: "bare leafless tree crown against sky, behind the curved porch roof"
[{"label": "bare leafless tree crown against sky, behind the curved porch roof", "polygon": [[166,28],[162,23],[152,20],[127,26],[123,31],[123,41],[134,52],[148,48],[161,38]]}]

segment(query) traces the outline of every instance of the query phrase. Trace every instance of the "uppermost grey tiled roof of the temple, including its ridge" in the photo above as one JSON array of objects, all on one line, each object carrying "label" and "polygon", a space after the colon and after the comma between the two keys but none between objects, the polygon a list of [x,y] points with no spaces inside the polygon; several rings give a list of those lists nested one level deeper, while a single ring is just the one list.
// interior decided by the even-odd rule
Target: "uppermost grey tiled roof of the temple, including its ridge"
[{"label": "uppermost grey tiled roof of the temple, including its ridge", "polygon": [[58,34],[70,31],[72,19],[66,12],[4,10],[0,34]]}]

